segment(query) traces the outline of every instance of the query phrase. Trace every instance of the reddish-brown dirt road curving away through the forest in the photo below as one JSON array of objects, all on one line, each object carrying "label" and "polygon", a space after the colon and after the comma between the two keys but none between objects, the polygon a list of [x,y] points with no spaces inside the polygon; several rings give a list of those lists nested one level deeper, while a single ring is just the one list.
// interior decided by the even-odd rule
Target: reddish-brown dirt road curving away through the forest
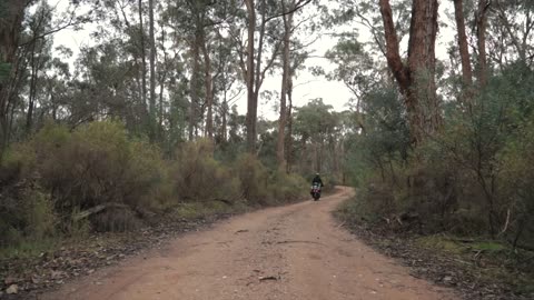
[{"label": "reddish-brown dirt road curving away through the forest", "polygon": [[340,228],[329,212],[350,193],[224,221],[42,299],[456,299]]}]

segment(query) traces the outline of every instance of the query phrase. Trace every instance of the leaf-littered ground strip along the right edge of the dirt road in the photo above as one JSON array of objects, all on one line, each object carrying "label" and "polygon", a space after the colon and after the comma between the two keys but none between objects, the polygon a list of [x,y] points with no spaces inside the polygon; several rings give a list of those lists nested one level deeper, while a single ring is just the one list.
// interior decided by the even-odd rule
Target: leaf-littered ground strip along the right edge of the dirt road
[{"label": "leaf-littered ground strip along the right edge of the dirt road", "polygon": [[468,300],[534,299],[534,252],[484,237],[421,234],[396,220],[369,222],[342,206],[336,219],[409,274],[454,289]]}]

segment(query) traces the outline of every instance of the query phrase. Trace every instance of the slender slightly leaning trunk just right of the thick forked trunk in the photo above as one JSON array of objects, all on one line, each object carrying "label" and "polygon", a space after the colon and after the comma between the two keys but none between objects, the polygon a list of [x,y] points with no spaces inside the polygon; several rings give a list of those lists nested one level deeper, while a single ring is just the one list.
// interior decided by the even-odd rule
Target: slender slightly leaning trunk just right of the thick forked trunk
[{"label": "slender slightly leaning trunk just right of the thick forked trunk", "polygon": [[459,57],[462,61],[462,80],[463,80],[464,90],[465,90],[462,98],[464,102],[469,102],[472,98],[471,91],[473,86],[473,70],[471,68],[467,34],[465,33],[463,0],[454,0],[454,16],[456,19],[456,29],[458,31],[458,49],[459,49]]}]

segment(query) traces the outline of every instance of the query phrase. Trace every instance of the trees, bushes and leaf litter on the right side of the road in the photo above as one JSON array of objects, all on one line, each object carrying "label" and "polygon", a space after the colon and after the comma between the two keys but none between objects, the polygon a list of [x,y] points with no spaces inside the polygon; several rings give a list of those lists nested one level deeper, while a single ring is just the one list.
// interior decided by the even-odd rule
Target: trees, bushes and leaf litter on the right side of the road
[{"label": "trees, bushes and leaf litter on the right side of the road", "polygon": [[[360,134],[347,142],[357,196],[340,208],[340,218],[408,264],[434,262],[418,264],[426,273],[438,269],[431,278],[439,283],[464,283],[483,299],[528,299],[534,294],[534,69],[524,54],[533,50],[533,23],[523,17],[532,16],[532,4],[454,1],[443,18],[458,34],[449,61],[439,61],[418,50],[434,42],[413,42],[426,29],[402,21],[422,17],[403,10],[412,1],[379,1],[380,11],[356,2],[346,1],[349,22],[370,16],[379,22],[367,22],[376,43],[346,39],[329,52],[338,64],[330,76],[353,87],[360,112]],[[429,8],[437,1],[413,4]],[[392,11],[404,17],[394,22]],[[466,32],[469,26],[474,30]],[[497,33],[512,27],[517,31]],[[409,38],[407,58],[395,34]],[[528,42],[506,46],[518,36]],[[473,49],[469,38],[477,41]],[[384,53],[384,60],[373,53]]]}]

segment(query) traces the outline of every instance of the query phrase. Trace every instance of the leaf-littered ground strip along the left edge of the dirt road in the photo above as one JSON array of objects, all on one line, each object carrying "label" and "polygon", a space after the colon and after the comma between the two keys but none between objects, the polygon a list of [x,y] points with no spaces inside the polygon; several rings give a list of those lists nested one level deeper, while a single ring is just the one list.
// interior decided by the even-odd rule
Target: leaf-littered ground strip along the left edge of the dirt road
[{"label": "leaf-littered ground strip along the left edge of the dirt road", "polygon": [[[241,210],[238,208],[235,213]],[[208,211],[192,216],[186,212],[181,214],[187,218],[170,217],[165,222],[131,232],[91,233],[76,239],[42,241],[41,246],[30,244],[26,252],[0,259],[0,300],[39,299],[43,292],[130,257],[161,249],[169,240],[208,229],[235,213]]]}]

